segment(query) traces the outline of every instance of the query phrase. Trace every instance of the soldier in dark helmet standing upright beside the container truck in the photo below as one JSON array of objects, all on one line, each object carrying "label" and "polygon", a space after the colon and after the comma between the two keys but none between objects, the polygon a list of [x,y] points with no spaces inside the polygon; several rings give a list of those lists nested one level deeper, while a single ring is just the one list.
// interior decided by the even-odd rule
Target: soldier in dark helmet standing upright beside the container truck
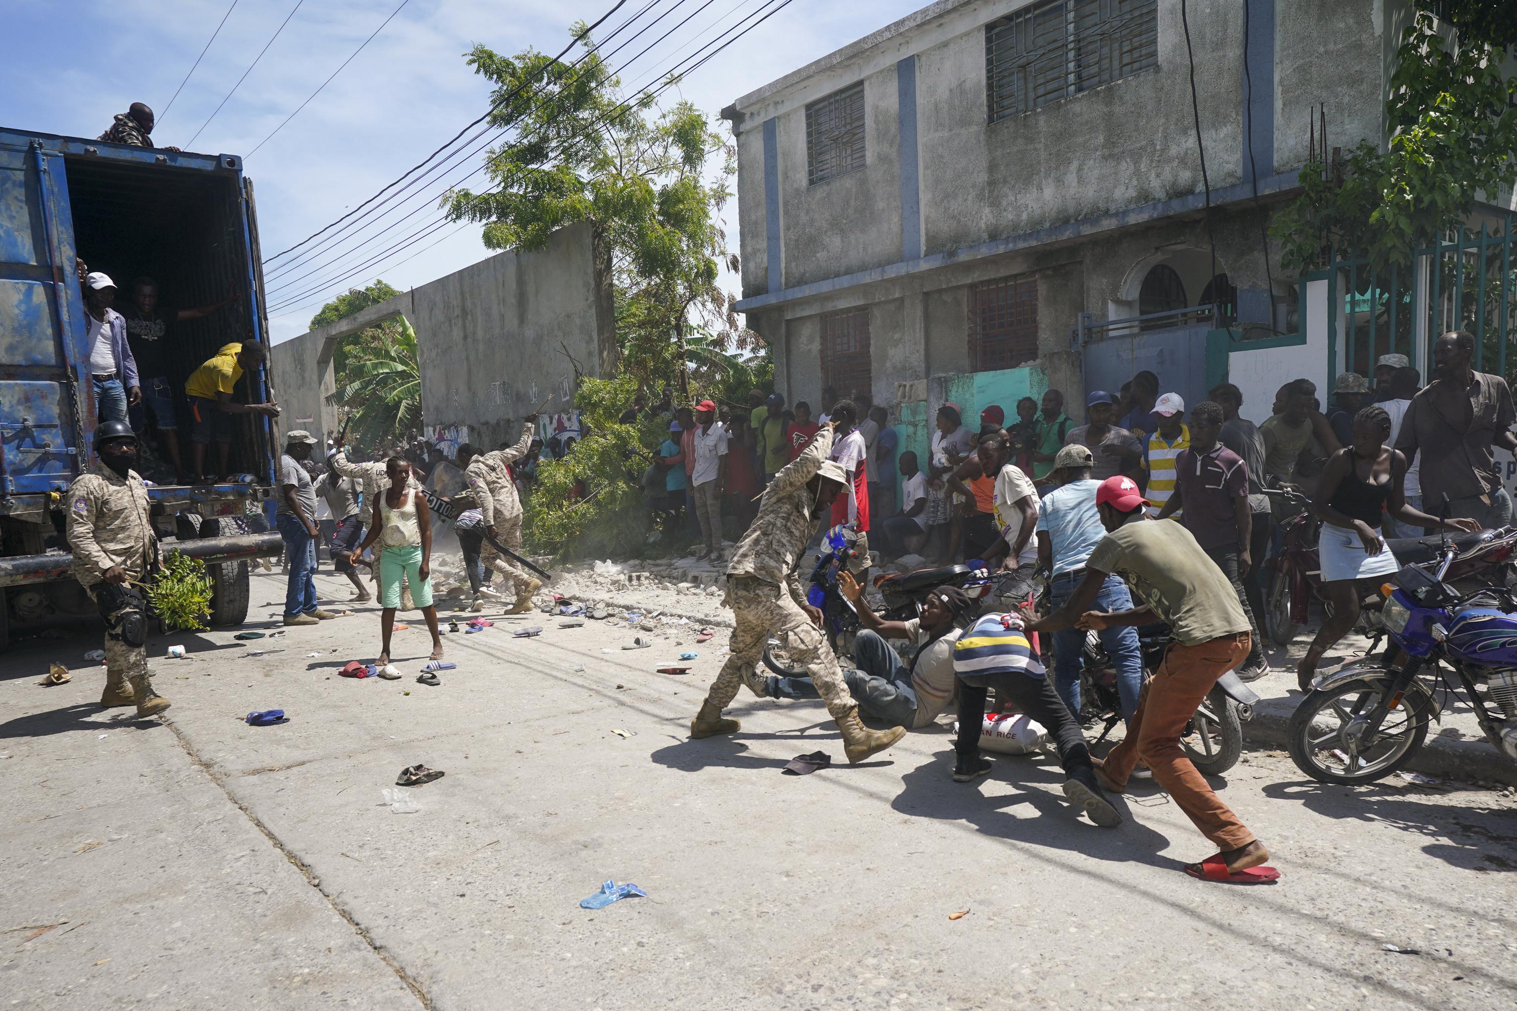
[{"label": "soldier in dark helmet standing upright beside the container truck", "polygon": [[[158,562],[158,537],[149,517],[147,487],[132,467],[137,435],[124,421],[96,429],[100,462],[68,490],[70,571],[105,618],[105,708],[137,703],[137,715],[156,715],[168,699],[147,675],[147,608],[140,585]],[[127,687],[130,684],[130,687]]]}]

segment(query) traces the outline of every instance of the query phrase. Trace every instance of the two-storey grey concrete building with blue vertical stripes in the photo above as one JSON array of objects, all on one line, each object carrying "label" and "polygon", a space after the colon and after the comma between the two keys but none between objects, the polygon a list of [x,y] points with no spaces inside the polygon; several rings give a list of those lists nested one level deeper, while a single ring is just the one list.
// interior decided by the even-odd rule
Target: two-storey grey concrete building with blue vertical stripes
[{"label": "two-storey grey concrete building with blue vertical stripes", "polygon": [[1330,147],[1382,141],[1411,17],[939,0],[724,109],[737,309],[792,403],[868,388],[918,452],[944,400],[972,427],[1056,387],[1083,423],[1086,390],[1139,368],[1188,402],[1232,376],[1264,420],[1280,382],[1329,371],[1268,217],[1323,123]]}]

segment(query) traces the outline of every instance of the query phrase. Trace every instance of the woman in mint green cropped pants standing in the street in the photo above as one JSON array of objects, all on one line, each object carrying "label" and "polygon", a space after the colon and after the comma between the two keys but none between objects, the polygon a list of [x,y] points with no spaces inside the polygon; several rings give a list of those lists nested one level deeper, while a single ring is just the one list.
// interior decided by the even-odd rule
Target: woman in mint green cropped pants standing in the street
[{"label": "woman in mint green cropped pants standing in the street", "polygon": [[432,514],[420,493],[407,488],[411,480],[411,464],[400,456],[385,461],[385,476],[390,487],[382,496],[375,496],[375,514],[369,523],[369,535],[349,561],[363,555],[364,549],[379,541],[379,635],[382,650],[379,664],[390,662],[390,632],[394,631],[394,612],[400,606],[400,576],[411,584],[411,602],[426,617],[432,634],[432,659],[443,658],[443,638],[437,632],[437,608],[432,606]]}]

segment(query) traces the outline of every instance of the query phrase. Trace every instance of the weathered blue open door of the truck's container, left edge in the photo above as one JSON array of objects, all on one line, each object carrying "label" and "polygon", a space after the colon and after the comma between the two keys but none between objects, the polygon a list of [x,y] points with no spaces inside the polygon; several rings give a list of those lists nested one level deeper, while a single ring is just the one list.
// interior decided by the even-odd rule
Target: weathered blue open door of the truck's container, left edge
[{"label": "weathered blue open door of the truck's container, left edge", "polygon": [[94,430],[64,159],[0,130],[0,515],[39,521]]}]

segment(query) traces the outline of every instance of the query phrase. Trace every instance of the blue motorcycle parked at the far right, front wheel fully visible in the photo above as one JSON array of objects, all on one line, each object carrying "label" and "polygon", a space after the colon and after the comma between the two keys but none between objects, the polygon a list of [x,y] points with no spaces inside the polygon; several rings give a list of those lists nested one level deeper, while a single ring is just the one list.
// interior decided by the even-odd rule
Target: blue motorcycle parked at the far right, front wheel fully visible
[{"label": "blue motorcycle parked at the far right, front wheel fully visible", "polygon": [[1344,785],[1390,776],[1427,740],[1440,684],[1443,699],[1462,688],[1487,740],[1517,759],[1517,599],[1505,585],[1461,594],[1446,584],[1458,553],[1446,543],[1435,573],[1406,565],[1382,587],[1396,649],[1312,681],[1288,731],[1303,773]]}]

